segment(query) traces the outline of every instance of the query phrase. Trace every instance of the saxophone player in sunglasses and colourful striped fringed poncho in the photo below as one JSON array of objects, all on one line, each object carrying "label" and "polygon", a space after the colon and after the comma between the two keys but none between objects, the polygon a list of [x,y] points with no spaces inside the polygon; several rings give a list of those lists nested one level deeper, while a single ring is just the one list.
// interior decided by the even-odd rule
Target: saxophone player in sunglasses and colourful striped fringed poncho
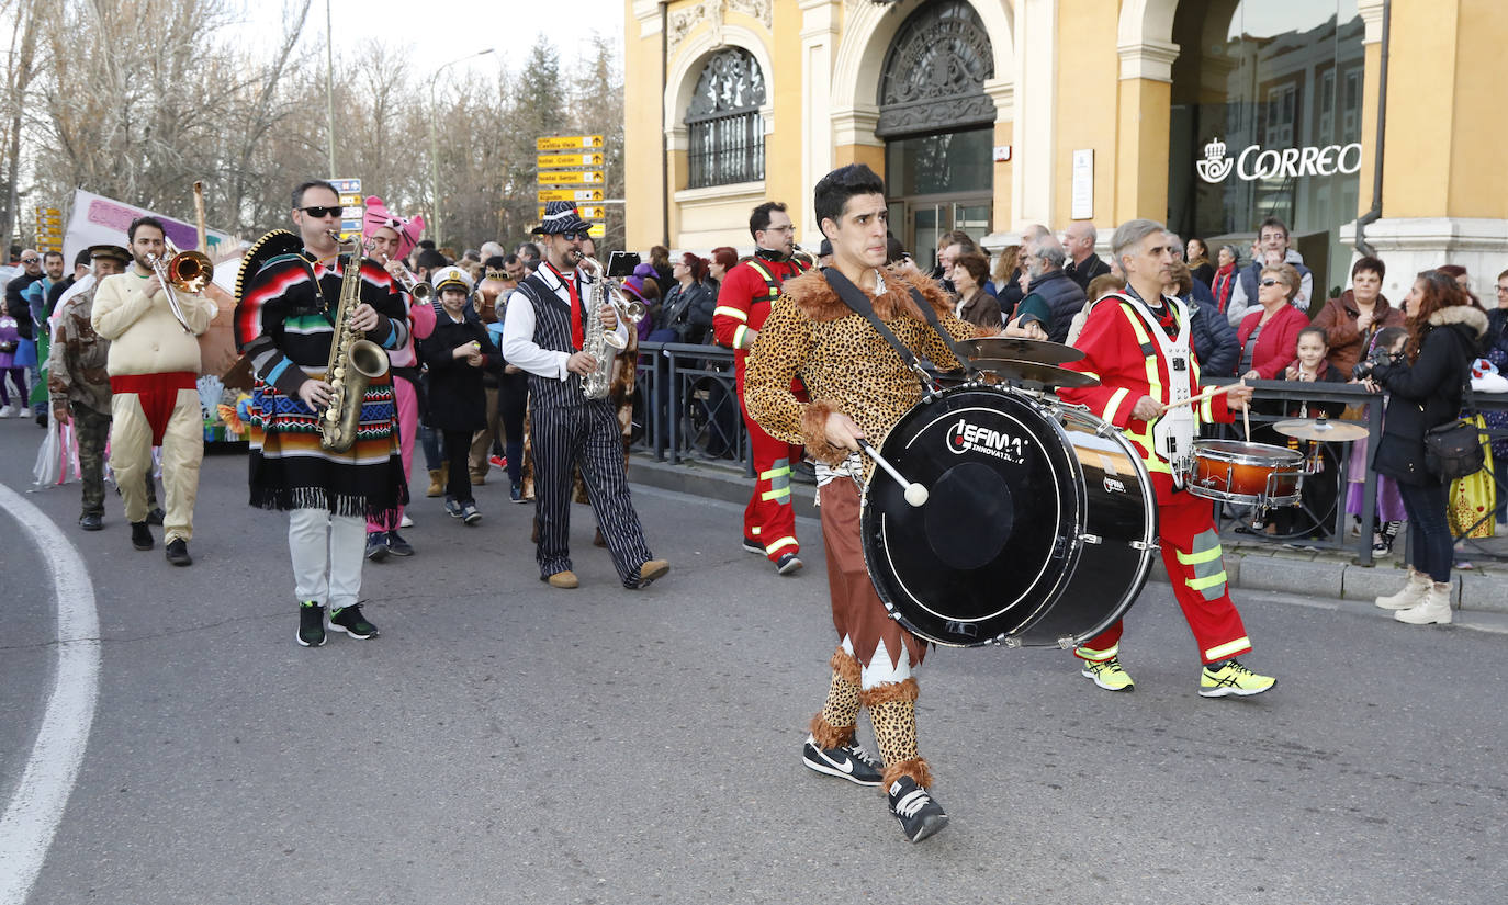
[{"label": "saxophone player in sunglasses and colourful striped fringed poncho", "polygon": [[[371,380],[360,404],[357,439],[326,449],[317,430],[333,386],[326,380],[338,341],[336,312],[348,267],[359,267],[350,324],[385,350],[409,342],[407,306],[375,261],[339,255],[332,231],[341,201],[324,181],[293,190],[299,234],[273,231],[252,246],[237,278],[235,344],[255,374],[250,428],[250,504],[288,513],[297,641],[324,644],[326,629],[353,638],[377,635],[357,602],[366,519],[397,525],[409,501],[398,449],[391,376]],[[326,618],[329,621],[326,623]]]}]

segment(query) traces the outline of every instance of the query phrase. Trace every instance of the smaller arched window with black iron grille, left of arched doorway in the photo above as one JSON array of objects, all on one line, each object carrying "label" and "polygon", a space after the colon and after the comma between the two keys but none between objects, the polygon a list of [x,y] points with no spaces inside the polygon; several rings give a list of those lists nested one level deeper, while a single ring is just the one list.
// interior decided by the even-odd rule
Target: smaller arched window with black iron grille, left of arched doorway
[{"label": "smaller arched window with black iron grille, left of arched doorway", "polygon": [[688,189],[765,178],[765,74],[746,50],[728,47],[707,59],[686,109]]}]

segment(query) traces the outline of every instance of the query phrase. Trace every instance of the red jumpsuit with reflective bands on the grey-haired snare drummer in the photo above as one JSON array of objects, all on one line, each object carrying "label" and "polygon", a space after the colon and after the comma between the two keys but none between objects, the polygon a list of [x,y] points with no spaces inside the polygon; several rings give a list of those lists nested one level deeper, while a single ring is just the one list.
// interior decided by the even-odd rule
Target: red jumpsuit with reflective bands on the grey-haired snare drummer
[{"label": "red jumpsuit with reflective bands on the grey-haired snare drummer", "polygon": [[[1200,658],[1205,664],[1214,664],[1249,652],[1252,641],[1226,588],[1220,535],[1215,532],[1209,501],[1175,489],[1172,468],[1154,451],[1152,425],[1131,416],[1143,395],[1164,404],[1173,400],[1167,357],[1133,305],[1129,299],[1108,296],[1095,306],[1075,342],[1084,357],[1065,367],[1099,377],[1099,386],[1063,389],[1059,397],[1066,403],[1087,406],[1119,427],[1142,452],[1157,490],[1158,541],[1173,596],[1194,634]],[[1166,300],[1164,305],[1167,314],[1163,324],[1176,332],[1173,309]],[[1197,395],[1199,364],[1193,356],[1187,380],[1188,394]],[[1194,418],[1199,424],[1208,424],[1229,422],[1234,416],[1220,395],[1196,404]],[[1119,650],[1120,630],[1117,620],[1074,653],[1095,662],[1110,659]]]}]

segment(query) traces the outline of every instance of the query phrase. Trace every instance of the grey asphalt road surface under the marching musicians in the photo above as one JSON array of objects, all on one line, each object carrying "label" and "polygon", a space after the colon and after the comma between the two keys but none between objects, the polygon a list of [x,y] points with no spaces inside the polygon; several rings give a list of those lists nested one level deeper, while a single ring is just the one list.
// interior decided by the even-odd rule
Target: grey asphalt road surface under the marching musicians
[{"label": "grey asphalt road surface under the marching musicians", "polygon": [[[0,421],[0,484],[41,431]],[[620,588],[575,511],[578,591],[537,581],[529,508],[419,499],[419,554],[369,564],[382,637],[294,644],[287,520],[205,462],[192,569],[74,526],[100,686],[29,902],[1500,903],[1508,637],[1241,594],[1250,700],[1194,694],[1167,585],[1131,611],[1116,695],[1050,650],[936,650],[921,751],[952,825],[905,842],[872,789],[799,762],[834,637],[816,523],[783,579],[740,507],[635,487],[673,572]],[[808,513],[810,514],[810,513]],[[57,668],[41,555],[0,511],[0,805]],[[158,537],[160,540],[160,537]],[[867,735],[867,729],[866,729]],[[0,866],[0,876],[6,867]]]}]

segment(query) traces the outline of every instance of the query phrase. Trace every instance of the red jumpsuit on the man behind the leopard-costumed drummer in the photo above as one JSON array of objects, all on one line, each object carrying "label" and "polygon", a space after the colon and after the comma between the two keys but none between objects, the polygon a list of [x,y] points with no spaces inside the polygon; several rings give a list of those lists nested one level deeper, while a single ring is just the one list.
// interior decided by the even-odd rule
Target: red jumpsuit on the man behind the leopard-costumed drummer
[{"label": "red jumpsuit on the man behind the leopard-costumed drummer", "polygon": [[[722,288],[718,290],[718,308],[712,314],[718,342],[734,350],[739,410],[754,454],[754,493],[743,507],[743,537],[763,545],[771,563],[778,563],[786,554],[801,552],[796,541],[796,511],[790,505],[790,465],[801,462],[802,448],[777,440],[749,418],[748,406],[743,404],[743,370],[749,354],[746,333],[765,326],[769,306],[780,297],[780,284],[804,270],[796,261],[743,261],[724,276]],[[807,398],[798,388],[792,389],[798,398]]]}]

